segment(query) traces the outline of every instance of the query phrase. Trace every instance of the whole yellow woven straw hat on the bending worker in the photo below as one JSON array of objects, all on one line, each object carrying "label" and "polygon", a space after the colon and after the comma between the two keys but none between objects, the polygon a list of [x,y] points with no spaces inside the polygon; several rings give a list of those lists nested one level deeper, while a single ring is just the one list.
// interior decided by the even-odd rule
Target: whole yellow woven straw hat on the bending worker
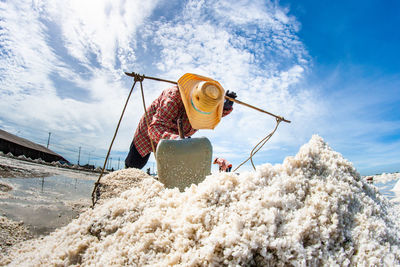
[{"label": "whole yellow woven straw hat on the bending worker", "polygon": [[194,129],[214,129],[222,117],[225,90],[210,78],[186,73],[178,80],[183,105]]}]

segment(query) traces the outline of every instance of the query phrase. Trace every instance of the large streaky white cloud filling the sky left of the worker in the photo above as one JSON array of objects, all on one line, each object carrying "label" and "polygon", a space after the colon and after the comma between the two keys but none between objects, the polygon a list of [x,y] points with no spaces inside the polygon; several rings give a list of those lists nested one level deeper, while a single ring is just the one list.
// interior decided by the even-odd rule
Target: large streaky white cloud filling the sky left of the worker
[{"label": "large streaky white cloud filling the sky left of the worker", "polygon": [[[91,145],[107,147],[128,94],[127,79],[121,80],[121,75],[135,63],[135,31],[155,4],[1,2],[0,117],[24,128],[19,135],[26,137],[35,138],[38,131],[51,130],[55,136],[57,132],[64,136],[60,142],[77,144],[87,142],[87,136],[96,133],[96,138],[89,139]],[[82,5],[91,8],[83,9]],[[136,14],[138,9],[141,12]],[[54,32],[52,28],[61,30]],[[69,54],[60,53],[64,51]],[[93,55],[97,64],[92,62]],[[53,74],[73,88],[57,84],[51,79]],[[72,98],[60,97],[62,90]],[[77,90],[87,91],[89,99],[73,97]],[[131,102],[141,103],[135,99]],[[135,127],[132,124],[141,115],[136,113],[126,116],[131,123],[129,129]],[[117,144],[116,148],[126,150],[126,144]]]}]

